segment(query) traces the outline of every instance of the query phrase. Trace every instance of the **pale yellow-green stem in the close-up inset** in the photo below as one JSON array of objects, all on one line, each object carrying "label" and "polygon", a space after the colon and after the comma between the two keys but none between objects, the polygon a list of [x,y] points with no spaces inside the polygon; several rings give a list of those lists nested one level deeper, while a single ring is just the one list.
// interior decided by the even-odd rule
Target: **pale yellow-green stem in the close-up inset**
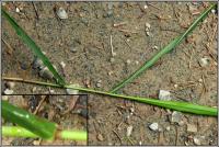
[{"label": "pale yellow-green stem in the close-up inset", "polygon": [[[57,134],[57,138],[71,140],[87,140],[88,136],[87,132],[82,131],[59,131]],[[2,136],[39,138],[39,136],[20,126],[2,126]]]}]

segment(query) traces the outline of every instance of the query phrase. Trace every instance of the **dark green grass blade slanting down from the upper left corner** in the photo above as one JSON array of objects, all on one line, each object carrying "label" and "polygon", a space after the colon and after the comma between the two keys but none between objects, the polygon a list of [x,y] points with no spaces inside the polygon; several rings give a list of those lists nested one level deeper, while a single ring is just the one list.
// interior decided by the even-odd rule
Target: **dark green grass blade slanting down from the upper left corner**
[{"label": "dark green grass blade slanting down from the upper left corner", "polygon": [[24,32],[24,30],[19,26],[19,24],[11,18],[3,8],[1,9],[2,15],[9,21],[11,26],[16,31],[20,38],[32,49],[32,52],[43,60],[44,65],[51,71],[57,82],[64,86],[66,82],[62,77],[56,71],[54,66],[50,64],[49,59],[42,53],[41,48],[35,44],[35,42]]}]

